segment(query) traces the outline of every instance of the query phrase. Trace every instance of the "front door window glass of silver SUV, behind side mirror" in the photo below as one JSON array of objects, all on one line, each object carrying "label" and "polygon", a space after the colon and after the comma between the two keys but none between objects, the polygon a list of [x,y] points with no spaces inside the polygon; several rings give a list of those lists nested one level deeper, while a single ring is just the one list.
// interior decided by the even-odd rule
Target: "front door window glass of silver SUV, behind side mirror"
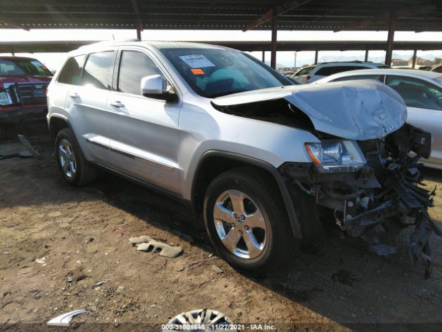
[{"label": "front door window glass of silver SUV, behind side mirror", "polygon": [[162,73],[148,55],[137,50],[122,51],[117,91],[141,95],[141,79],[150,75],[162,75]]}]

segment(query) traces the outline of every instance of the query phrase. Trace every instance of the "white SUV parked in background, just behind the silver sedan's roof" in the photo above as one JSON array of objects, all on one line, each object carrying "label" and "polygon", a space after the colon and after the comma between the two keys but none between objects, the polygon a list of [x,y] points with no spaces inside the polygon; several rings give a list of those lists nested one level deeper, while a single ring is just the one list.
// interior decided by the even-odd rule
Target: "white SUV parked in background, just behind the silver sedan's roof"
[{"label": "white SUV parked in background, just behind the silver sedan's roof", "polygon": [[310,73],[305,77],[306,83],[315,82],[323,77],[328,77],[336,73],[344,71],[357,71],[359,69],[377,69],[391,68],[385,64],[377,64],[374,62],[323,62],[311,69]]}]

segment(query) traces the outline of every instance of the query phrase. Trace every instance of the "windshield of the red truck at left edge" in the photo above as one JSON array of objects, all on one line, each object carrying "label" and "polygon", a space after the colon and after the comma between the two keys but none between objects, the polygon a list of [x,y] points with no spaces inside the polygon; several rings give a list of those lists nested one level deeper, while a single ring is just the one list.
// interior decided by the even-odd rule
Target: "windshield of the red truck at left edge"
[{"label": "windshield of the red truck at left edge", "polygon": [[35,59],[0,59],[0,75],[43,75],[52,76],[52,73]]}]

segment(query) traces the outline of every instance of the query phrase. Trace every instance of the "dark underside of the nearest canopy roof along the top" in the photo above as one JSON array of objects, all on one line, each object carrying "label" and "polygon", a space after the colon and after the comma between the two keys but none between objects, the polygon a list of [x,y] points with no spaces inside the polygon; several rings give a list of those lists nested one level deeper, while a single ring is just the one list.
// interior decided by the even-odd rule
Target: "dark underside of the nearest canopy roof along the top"
[{"label": "dark underside of the nearest canopy roof along the top", "polygon": [[[273,11],[272,11],[273,10]],[[1,0],[0,28],[442,31],[439,0]]]}]

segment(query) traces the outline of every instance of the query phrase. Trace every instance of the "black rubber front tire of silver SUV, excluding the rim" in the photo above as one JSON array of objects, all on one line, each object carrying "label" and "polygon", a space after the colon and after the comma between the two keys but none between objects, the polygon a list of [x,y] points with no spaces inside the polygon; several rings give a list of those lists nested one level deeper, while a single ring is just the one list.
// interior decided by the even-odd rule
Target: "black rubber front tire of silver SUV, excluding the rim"
[{"label": "black rubber front tire of silver SUV, excluding the rim", "polygon": [[[243,192],[256,203],[267,219],[267,239],[262,253],[255,259],[234,255],[222,243],[215,229],[213,209],[216,200],[227,190]],[[251,167],[231,169],[211,181],[204,195],[204,224],[209,239],[218,252],[233,268],[253,275],[265,275],[291,261],[299,246],[291,230],[289,217],[276,182],[267,174]]]}]

